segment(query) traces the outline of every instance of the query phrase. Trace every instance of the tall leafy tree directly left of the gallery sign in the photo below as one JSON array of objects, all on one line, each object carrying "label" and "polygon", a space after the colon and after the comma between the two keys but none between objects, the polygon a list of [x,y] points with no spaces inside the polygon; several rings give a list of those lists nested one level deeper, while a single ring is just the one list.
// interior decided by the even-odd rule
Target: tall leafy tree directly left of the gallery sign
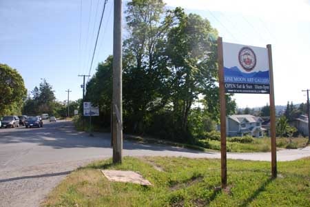
[{"label": "tall leafy tree directly left of the gallery sign", "polygon": [[200,93],[215,88],[217,32],[207,19],[196,14],[185,14],[176,8],[176,26],[167,40],[168,67],[171,68],[172,103],[180,130],[187,132],[187,121],[192,104]]}]

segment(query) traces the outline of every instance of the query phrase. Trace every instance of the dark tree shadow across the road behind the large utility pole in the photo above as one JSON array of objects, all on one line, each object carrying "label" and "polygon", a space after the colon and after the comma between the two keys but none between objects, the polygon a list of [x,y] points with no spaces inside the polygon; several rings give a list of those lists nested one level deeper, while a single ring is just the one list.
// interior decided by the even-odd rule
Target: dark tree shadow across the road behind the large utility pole
[{"label": "dark tree shadow across the road behind the large utility pole", "polygon": [[[110,133],[94,133],[90,137],[88,132],[79,132],[74,129],[71,121],[61,121],[52,124],[45,124],[43,128],[19,128],[0,130],[0,145],[33,143],[40,146],[50,146],[56,149],[62,148],[111,148]],[[174,146],[161,144],[140,144],[135,141],[125,140],[125,150],[155,150],[155,151],[177,151],[205,153]],[[213,154],[213,153],[211,153]]]}]

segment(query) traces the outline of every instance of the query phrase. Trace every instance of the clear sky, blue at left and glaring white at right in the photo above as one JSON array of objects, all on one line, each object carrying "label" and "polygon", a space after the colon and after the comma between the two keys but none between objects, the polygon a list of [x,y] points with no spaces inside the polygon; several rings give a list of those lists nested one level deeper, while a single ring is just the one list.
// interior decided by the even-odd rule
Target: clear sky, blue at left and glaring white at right
[{"label": "clear sky, blue at left and glaring white at right", "polygon": [[[271,43],[276,105],[306,100],[301,90],[310,88],[309,1],[165,2],[209,19],[223,41],[259,47]],[[99,61],[112,54],[112,6],[109,0],[91,75]],[[102,8],[103,0],[82,0],[82,12],[81,0],[0,0],[0,62],[21,73],[28,91],[45,78],[59,101],[67,99],[68,88],[72,90],[70,99],[79,99],[83,79],[78,75],[90,70]],[[239,107],[269,103],[268,95],[234,98]]]}]

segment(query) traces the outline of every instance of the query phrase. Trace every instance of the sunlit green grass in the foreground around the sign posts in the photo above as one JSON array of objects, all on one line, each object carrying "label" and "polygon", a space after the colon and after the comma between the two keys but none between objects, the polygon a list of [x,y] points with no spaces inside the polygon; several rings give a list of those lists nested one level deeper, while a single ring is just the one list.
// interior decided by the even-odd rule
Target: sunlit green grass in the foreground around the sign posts
[{"label": "sunlit green grass in the foreground around the sign posts", "polygon": [[[125,157],[72,172],[42,206],[310,206],[310,157],[278,162],[227,161],[228,188],[220,190],[219,159]],[[156,170],[154,168],[161,168]],[[153,186],[107,181],[101,169],[134,170]]]}]

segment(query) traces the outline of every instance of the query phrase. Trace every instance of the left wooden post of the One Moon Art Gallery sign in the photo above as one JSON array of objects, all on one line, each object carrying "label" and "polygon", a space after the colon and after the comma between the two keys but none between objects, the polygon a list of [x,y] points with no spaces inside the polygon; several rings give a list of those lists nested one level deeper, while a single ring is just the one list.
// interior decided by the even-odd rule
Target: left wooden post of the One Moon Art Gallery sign
[{"label": "left wooden post of the One Moon Art Gallery sign", "polygon": [[220,87],[220,166],[221,166],[221,186],[227,186],[227,156],[226,156],[226,103],[225,103],[225,83],[223,69],[223,42],[222,37],[218,37],[218,79]]}]

